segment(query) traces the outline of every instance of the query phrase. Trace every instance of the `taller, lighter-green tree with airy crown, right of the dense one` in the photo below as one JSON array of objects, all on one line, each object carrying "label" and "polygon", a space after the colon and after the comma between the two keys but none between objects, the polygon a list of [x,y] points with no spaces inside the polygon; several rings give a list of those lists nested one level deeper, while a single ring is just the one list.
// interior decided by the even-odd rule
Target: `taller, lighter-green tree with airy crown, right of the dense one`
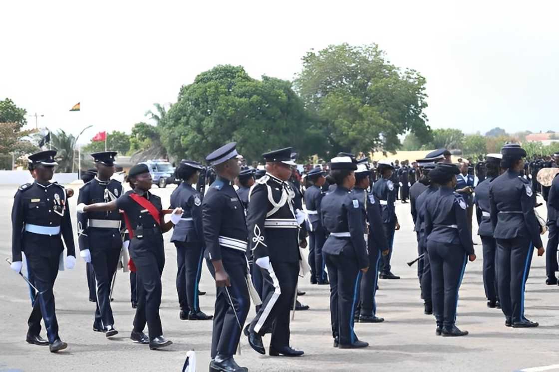
[{"label": "taller, lighter-green tree with airy crown, right of the dense one", "polygon": [[330,153],[394,152],[407,131],[429,141],[425,78],[390,64],[378,45],[330,45],[302,60],[295,88],[325,126]]}]

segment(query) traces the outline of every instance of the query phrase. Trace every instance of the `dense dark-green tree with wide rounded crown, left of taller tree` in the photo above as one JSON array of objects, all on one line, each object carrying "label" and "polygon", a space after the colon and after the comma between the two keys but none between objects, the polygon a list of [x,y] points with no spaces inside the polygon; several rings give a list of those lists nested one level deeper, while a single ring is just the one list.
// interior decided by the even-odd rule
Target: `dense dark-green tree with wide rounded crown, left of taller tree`
[{"label": "dense dark-green tree with wide rounded crown, left of taller tree", "polygon": [[291,83],[250,78],[241,66],[220,65],[196,76],[159,124],[162,142],[176,158],[199,161],[230,141],[247,160],[287,146],[301,157],[324,153],[324,133]]}]

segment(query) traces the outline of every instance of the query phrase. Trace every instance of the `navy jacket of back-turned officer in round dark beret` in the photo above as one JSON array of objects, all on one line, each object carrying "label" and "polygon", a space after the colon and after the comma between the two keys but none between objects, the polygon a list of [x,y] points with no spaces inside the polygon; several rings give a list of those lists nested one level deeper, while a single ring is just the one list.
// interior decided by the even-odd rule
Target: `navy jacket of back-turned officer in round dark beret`
[{"label": "navy jacket of back-turned officer in round dark beret", "polygon": [[473,243],[467,224],[466,201],[449,187],[439,189],[425,201],[425,241],[461,245],[473,254]]}]

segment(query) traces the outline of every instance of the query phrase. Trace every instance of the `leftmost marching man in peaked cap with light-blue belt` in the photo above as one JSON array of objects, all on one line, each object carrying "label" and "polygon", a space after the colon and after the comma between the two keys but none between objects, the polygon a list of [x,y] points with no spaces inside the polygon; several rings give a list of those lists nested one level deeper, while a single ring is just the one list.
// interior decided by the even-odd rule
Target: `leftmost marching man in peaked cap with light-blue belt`
[{"label": "leftmost marching man in peaked cap with light-blue belt", "polygon": [[[68,345],[60,340],[56,320],[53,287],[62,263],[64,244],[67,268],[75,265],[72,221],[63,186],[50,182],[54,174],[56,151],[42,151],[29,157],[35,175],[34,183],[26,183],[17,190],[12,208],[12,269],[22,268],[22,252],[35,276],[38,301],[27,321],[29,344],[49,345],[51,352]],[[48,341],[42,339],[41,318],[45,322]]]}]

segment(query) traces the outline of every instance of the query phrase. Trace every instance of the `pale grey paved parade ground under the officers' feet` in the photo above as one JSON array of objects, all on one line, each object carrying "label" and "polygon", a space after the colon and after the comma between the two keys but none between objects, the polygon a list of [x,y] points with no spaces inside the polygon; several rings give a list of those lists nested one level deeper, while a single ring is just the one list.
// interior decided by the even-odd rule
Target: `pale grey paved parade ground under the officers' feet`
[{"label": "pale grey paved parade ground under the officers' feet", "polygon": [[[60,272],[55,284],[56,315],[60,336],[68,349],[51,354],[46,346],[25,342],[27,317],[31,311],[27,284],[4,262],[11,258],[13,195],[17,187],[0,185],[0,371],[180,371],[188,350],[196,351],[197,371],[207,371],[210,362],[211,321],[181,321],[175,279],[176,249],[165,239],[163,298],[160,308],[164,336],[173,345],[150,351],[147,345],[129,339],[134,310],[130,306],[129,274],[119,271],[113,293],[115,327],[119,334],[107,339],[93,332],[95,304],[88,301],[86,265],[81,258],[73,270]],[[152,191],[169,205],[173,189]],[[70,199],[75,233],[76,195]],[[538,198],[538,201],[539,200]],[[538,211],[545,216],[545,207]],[[525,316],[539,322],[537,328],[505,327],[498,309],[486,307],[482,281],[482,248],[474,241],[477,260],[468,263],[459,292],[457,326],[470,332],[465,337],[435,336],[433,316],[424,315],[416,267],[406,262],[416,257],[409,204],[398,202],[396,213],[401,230],[396,231],[392,272],[400,280],[381,280],[377,292],[377,316],[383,323],[356,323],[359,339],[369,342],[365,349],[339,350],[332,346],[329,287],[311,286],[300,278],[305,291],[300,301],[310,306],[299,311],[291,322],[291,346],[305,351],[302,357],[269,357],[257,354],[241,336],[241,354],[235,360],[250,371],[543,371],[559,370],[559,287],[546,286],[545,259],[534,254],[525,291]],[[475,218],[475,217],[474,217]],[[474,221],[474,234],[477,223]],[[544,247],[547,234],[543,236]],[[200,284],[203,312],[213,313],[215,285],[204,267]],[[254,307],[249,320],[254,316]],[[45,336],[45,330],[41,331]],[[263,338],[264,346],[269,336]]]}]

